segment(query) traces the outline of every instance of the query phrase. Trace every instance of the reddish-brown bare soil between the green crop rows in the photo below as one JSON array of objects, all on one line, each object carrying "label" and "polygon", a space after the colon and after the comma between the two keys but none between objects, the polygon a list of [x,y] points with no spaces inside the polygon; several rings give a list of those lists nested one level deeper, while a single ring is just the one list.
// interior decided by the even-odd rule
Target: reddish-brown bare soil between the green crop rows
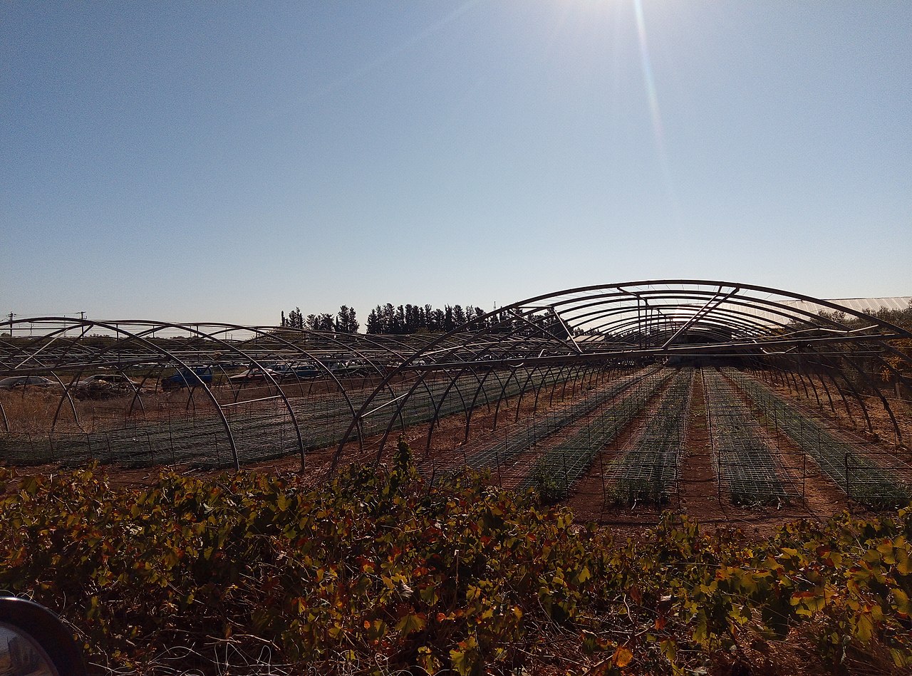
[{"label": "reddish-brown bare soil between the green crop rows", "polygon": [[[350,385],[354,386],[354,383],[350,383]],[[471,453],[472,448],[477,447],[479,442],[504,433],[522,430],[536,417],[549,413],[554,414],[591,394],[593,387],[597,387],[597,383],[594,380],[587,380],[584,383],[549,384],[539,390],[537,400],[534,393],[530,392],[522,397],[504,400],[499,409],[493,405],[479,407],[472,412],[469,418],[468,439],[466,437],[467,420],[465,414],[452,415],[440,420],[434,425],[430,433],[430,443],[429,425],[427,424],[410,428],[404,432],[403,436],[411,445],[416,461],[426,476],[456,470],[464,464],[467,454]],[[852,411],[853,414],[850,418],[841,400],[836,402],[835,411],[831,411],[828,406],[828,400],[820,392],[818,394],[824,404],[823,409],[817,406],[813,392],[804,392],[801,388],[790,388],[783,384],[775,385],[773,389],[806,407],[808,411],[814,411],[823,420],[840,431],[853,435],[859,442],[879,442],[890,452],[904,454],[907,462],[912,459],[905,446],[895,443],[896,435],[893,433],[892,422],[880,401],[876,398],[869,401],[867,411],[875,430],[875,433],[871,434],[866,432],[866,425],[863,424],[864,416],[862,416],[861,409],[855,402],[848,402],[849,411]],[[314,394],[315,392],[311,391],[310,393]],[[39,396],[32,398],[25,398],[21,393],[12,394],[13,396],[5,396],[3,399],[5,410],[16,410],[16,407],[19,406],[21,411],[17,412],[22,413],[26,418],[29,417],[31,412],[35,412],[29,411],[29,406],[37,407],[36,415],[40,418],[47,415],[47,411],[56,410],[59,401],[54,396],[40,393]],[[244,396],[254,397],[255,394],[255,390],[250,390]],[[34,403],[35,401],[37,403]],[[655,401],[658,401],[658,396],[653,405],[655,405]],[[189,400],[186,392],[180,393],[179,396],[171,395],[168,403],[172,409],[184,411],[187,410],[188,406],[192,407],[194,403],[204,406],[198,400],[195,402]],[[122,415],[123,407],[128,405],[127,400],[101,402],[101,404],[100,410],[105,411],[105,407],[108,407],[111,416]],[[88,408],[88,404],[86,406]],[[901,400],[891,401],[891,406],[903,439],[912,439],[912,408],[907,402]],[[162,406],[161,408],[164,407]],[[648,415],[648,412],[646,415]],[[146,415],[149,415],[148,407]],[[100,415],[96,414],[96,417],[99,420],[103,420],[105,414],[102,412]],[[582,422],[585,422],[585,420]],[[604,472],[607,464],[617,456],[619,450],[623,450],[636,442],[637,435],[641,433],[642,428],[643,420],[635,421],[621,434],[616,443],[599,453],[589,472],[577,484],[574,493],[567,498],[566,504],[574,510],[580,521],[594,520],[603,525],[611,526],[621,533],[627,532],[634,537],[645,526],[655,525],[658,522],[661,514],[661,509],[658,507],[648,505],[637,505],[632,508],[617,506],[606,504],[604,498]],[[539,447],[519,453],[510,462],[503,463],[499,467],[499,472],[495,470],[492,473],[492,481],[502,484],[504,487],[519,485],[530,468],[534,466],[535,460],[547,448],[554,445],[554,443],[558,443],[562,436],[567,433],[570,433],[569,429],[562,434],[555,435],[553,439],[540,444]],[[363,444],[358,444],[358,442],[347,443],[343,451],[338,454],[337,467],[344,466],[347,463],[373,463],[377,459],[381,463],[389,462],[398,436],[399,432],[393,432],[390,435],[383,452],[377,451],[380,437],[366,439]],[[887,441],[885,442],[884,440]],[[832,482],[824,477],[810,458],[805,458],[801,449],[795,447],[784,435],[780,435],[775,439],[768,438],[768,442],[772,444],[772,448],[777,449],[780,453],[782,465],[791,475],[793,484],[800,488],[803,500],[795,501],[792,504],[780,505],[779,508],[775,505],[748,508],[731,504],[724,491],[720,492],[718,489],[706,425],[702,383],[700,378],[695,378],[688,412],[686,452],[681,465],[679,496],[677,500],[673,501],[672,504],[666,505],[666,507],[686,513],[709,527],[737,525],[746,533],[757,536],[764,536],[772,532],[772,529],[776,526],[795,518],[823,519],[846,508],[854,508],[853,505],[847,503],[845,494],[842,494]],[[263,463],[253,463],[246,467],[260,471],[282,470],[299,473],[305,484],[316,485],[326,479],[330,465],[336,455],[336,446],[308,452],[303,469],[300,459],[296,456]],[[142,485],[153,481],[161,469],[166,468],[123,470],[111,467],[109,468],[109,476],[116,484]],[[179,469],[185,473],[212,474],[212,472],[188,468]],[[59,470],[56,466],[46,466],[29,468],[22,470],[21,473],[54,473],[57,471]]]}]

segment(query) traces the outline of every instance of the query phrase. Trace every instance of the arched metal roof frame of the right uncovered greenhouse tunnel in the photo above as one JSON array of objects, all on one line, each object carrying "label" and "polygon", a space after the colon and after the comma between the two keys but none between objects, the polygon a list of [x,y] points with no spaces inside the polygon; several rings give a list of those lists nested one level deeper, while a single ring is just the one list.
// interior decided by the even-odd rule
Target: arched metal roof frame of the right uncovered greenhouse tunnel
[{"label": "arched metal roof frame of the right uncovered greenhouse tunnel", "polygon": [[[821,316],[818,313],[822,310],[845,313],[845,321],[838,321],[838,316]],[[560,322],[563,334],[549,328],[554,327],[549,323],[552,318]],[[846,321],[855,321],[862,327],[849,327]],[[539,325],[536,326],[536,322]],[[586,352],[591,353],[587,359],[623,359],[628,353],[641,357],[669,355],[672,354],[668,351],[671,340],[684,330],[693,337],[694,345],[737,347],[744,356],[754,354],[761,359],[772,359],[774,355],[785,354],[798,346],[816,352],[817,344],[864,340],[868,344],[886,345],[886,340],[910,335],[907,329],[832,301],[769,286],[695,279],[658,279],[565,289],[501,307],[473,319],[472,324],[484,328],[474,333],[467,332],[468,323],[454,328],[428,342],[410,361],[434,352],[442,367],[457,359],[468,359],[466,354],[479,354],[478,347],[485,339],[492,342],[508,340],[512,341],[510,349],[500,353],[500,366],[511,368],[515,375],[515,369],[523,363],[534,367],[537,363],[556,363],[554,359],[558,357],[569,361],[580,359],[575,339],[567,334],[572,334],[574,328],[583,327],[596,327],[606,338],[604,345],[586,345]],[[642,341],[644,330],[654,334],[651,342],[646,346],[636,345]],[[567,337],[561,338],[562,335]],[[689,350],[689,346],[672,347],[676,348],[674,354],[687,354]],[[852,351],[849,349],[849,354]],[[711,354],[708,349],[702,353]],[[792,359],[800,364],[806,357],[793,356]],[[408,366],[407,361],[399,369]],[[801,376],[806,385],[803,372]],[[813,381],[811,388],[815,399],[820,400]],[[830,396],[828,389],[826,394]],[[858,392],[853,394],[860,399]],[[843,399],[845,403],[845,396]]]}]

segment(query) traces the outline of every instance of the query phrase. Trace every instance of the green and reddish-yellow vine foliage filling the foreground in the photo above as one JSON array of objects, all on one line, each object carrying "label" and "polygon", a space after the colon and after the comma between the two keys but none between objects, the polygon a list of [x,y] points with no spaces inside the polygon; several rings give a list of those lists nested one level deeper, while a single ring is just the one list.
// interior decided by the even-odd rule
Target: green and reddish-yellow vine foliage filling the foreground
[{"label": "green and reddish-yellow vine foliage filling the foreground", "polygon": [[212,660],[230,646],[327,673],[733,673],[748,644],[796,636],[829,672],[865,650],[912,669],[908,509],[752,543],[668,514],[621,541],[480,475],[425,484],[404,443],[392,468],[319,489],[0,477],[0,588],[72,622],[98,671],[151,673],[187,647],[186,670],[244,672]]}]

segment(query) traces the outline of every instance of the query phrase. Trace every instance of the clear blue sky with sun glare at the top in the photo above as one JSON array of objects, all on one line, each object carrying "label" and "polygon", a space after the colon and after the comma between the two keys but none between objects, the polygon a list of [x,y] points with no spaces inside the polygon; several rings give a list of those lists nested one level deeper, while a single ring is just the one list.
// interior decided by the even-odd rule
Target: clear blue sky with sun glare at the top
[{"label": "clear blue sky with sun glare at the top", "polygon": [[0,15],[4,314],[363,325],[668,277],[912,295],[912,3]]}]

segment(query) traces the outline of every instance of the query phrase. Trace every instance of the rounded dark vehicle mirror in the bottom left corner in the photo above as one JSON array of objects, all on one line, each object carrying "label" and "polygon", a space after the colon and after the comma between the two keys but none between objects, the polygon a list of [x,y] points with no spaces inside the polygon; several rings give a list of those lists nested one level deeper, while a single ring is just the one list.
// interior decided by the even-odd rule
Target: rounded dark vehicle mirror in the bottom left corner
[{"label": "rounded dark vehicle mirror in the bottom left corner", "polygon": [[0,674],[86,676],[73,635],[53,612],[26,598],[0,598]]}]

